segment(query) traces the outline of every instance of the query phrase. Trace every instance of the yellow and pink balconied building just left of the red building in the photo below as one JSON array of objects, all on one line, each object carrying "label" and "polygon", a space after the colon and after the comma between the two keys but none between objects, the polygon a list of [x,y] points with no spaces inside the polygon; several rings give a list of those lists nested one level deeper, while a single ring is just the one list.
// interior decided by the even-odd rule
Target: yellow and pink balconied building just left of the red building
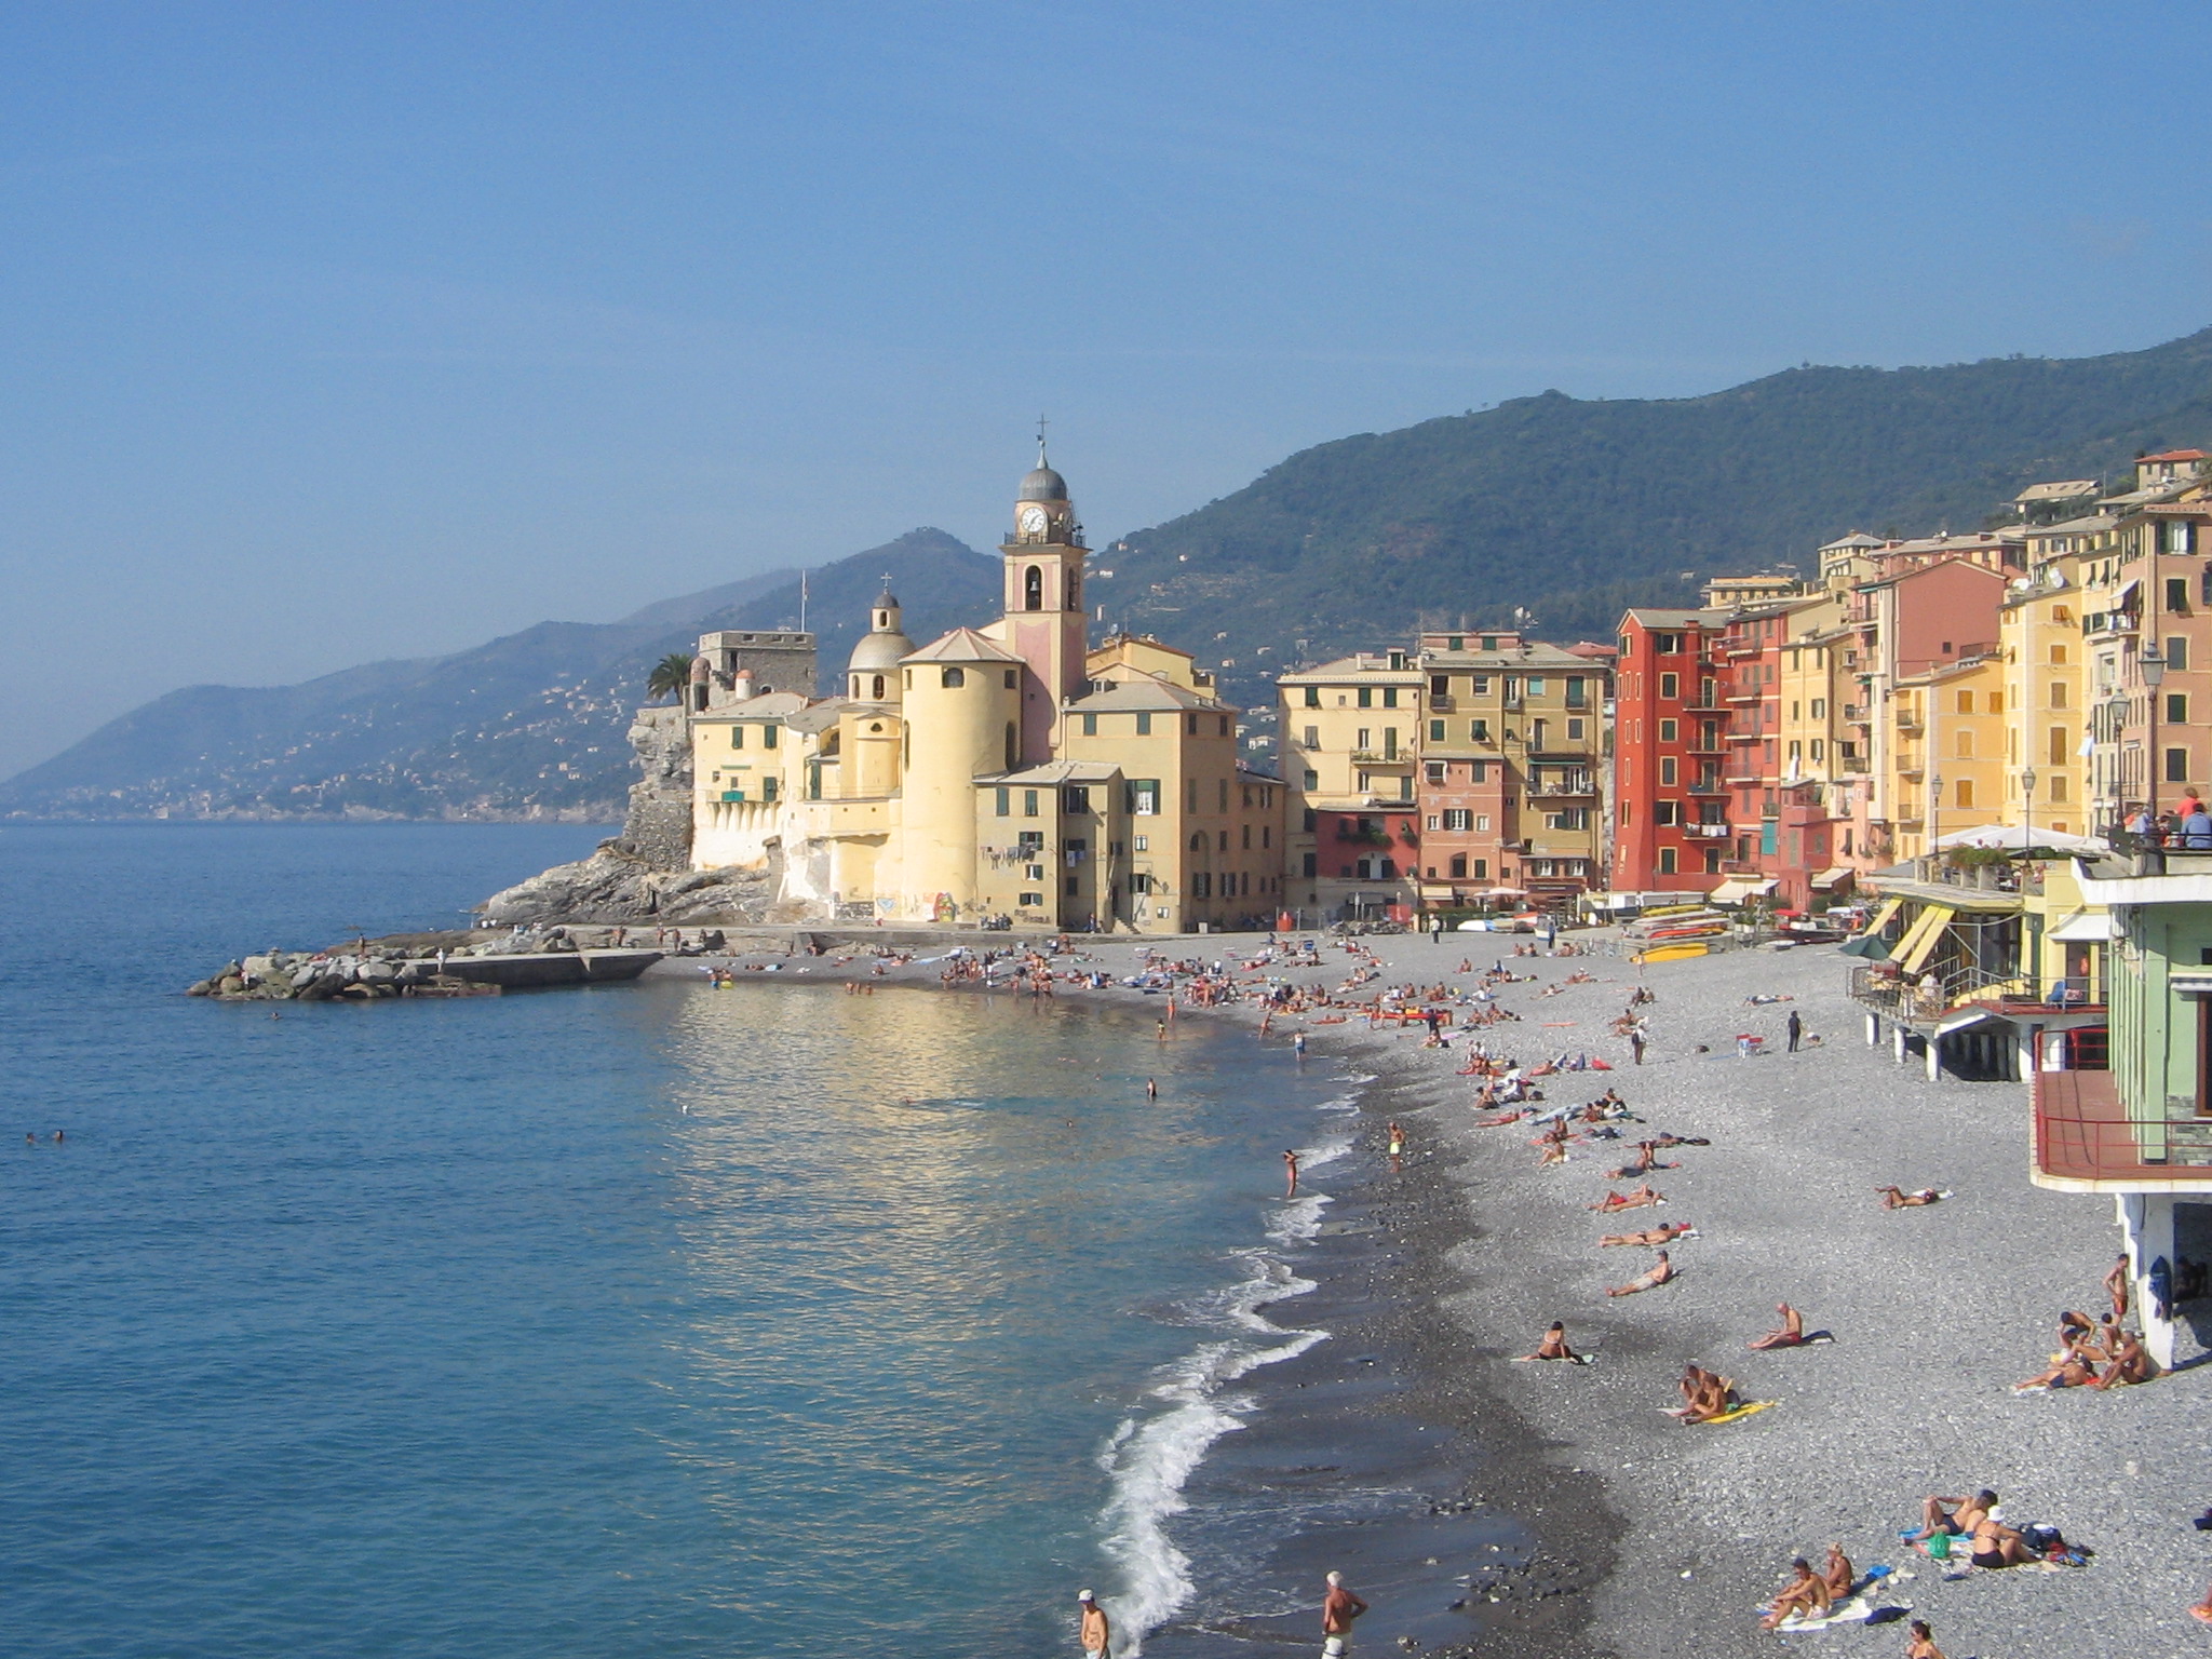
[{"label": "yellow and pink balconied building just left of the red building", "polygon": [[1610,655],[1425,633],[1416,661],[1422,907],[1526,894],[1566,909],[1604,885]]}]

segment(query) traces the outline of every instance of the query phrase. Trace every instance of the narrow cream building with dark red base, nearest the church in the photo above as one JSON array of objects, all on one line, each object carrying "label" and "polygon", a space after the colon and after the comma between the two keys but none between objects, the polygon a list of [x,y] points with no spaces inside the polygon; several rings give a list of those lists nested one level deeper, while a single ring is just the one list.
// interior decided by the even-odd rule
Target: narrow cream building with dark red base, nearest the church
[{"label": "narrow cream building with dark red base, nearest the church", "polygon": [[1425,692],[1409,650],[1276,679],[1287,889],[1307,920],[1413,916]]}]

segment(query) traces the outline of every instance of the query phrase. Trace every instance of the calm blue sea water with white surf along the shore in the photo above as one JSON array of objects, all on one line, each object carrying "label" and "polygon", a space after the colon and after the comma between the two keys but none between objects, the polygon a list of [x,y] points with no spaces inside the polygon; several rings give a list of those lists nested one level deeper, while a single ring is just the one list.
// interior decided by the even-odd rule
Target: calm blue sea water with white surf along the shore
[{"label": "calm blue sea water with white surf along the shore", "polygon": [[1188,1593],[1181,1480],[1314,1340],[1254,1307],[1318,1068],[925,991],[177,995],[597,834],[0,830],[9,1652],[1035,1655]]}]

